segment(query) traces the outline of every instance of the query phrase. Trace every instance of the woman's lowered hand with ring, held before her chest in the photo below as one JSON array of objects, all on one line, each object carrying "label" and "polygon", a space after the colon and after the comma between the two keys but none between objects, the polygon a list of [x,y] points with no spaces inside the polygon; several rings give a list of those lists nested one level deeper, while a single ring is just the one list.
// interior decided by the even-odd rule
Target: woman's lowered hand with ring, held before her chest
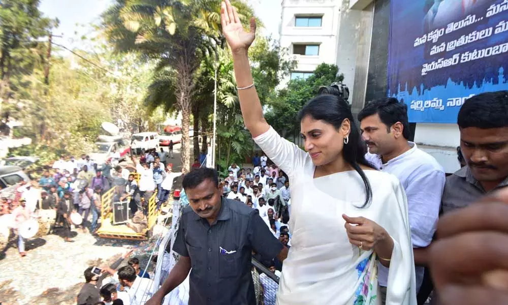
[{"label": "woman's lowered hand with ring, held before her chest", "polygon": [[383,227],[365,217],[348,217],[343,214],[342,218],[346,221],[344,227],[347,238],[361,250],[369,251],[388,236]]}]

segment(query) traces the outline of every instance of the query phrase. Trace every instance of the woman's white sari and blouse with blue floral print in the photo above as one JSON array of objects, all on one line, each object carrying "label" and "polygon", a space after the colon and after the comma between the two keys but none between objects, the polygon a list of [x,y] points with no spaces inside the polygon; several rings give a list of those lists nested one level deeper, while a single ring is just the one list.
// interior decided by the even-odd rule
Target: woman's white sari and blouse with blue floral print
[{"label": "woman's white sari and blouse with blue floral print", "polygon": [[291,181],[292,239],[284,260],[277,304],[378,304],[375,253],[347,238],[342,214],[363,216],[394,240],[387,304],[416,304],[415,264],[407,201],[398,179],[367,170],[372,202],[362,207],[365,186],[356,171],[313,178],[310,156],[272,128],[254,139]]}]

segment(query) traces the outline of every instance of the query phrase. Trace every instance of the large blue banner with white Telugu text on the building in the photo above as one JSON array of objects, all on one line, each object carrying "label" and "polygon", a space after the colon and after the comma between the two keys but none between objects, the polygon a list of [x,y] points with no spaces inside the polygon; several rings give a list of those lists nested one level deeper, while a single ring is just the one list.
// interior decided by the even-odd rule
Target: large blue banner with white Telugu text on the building
[{"label": "large blue banner with white Telugu text on the building", "polygon": [[392,0],[388,96],[412,123],[457,123],[460,106],[508,90],[508,0]]}]

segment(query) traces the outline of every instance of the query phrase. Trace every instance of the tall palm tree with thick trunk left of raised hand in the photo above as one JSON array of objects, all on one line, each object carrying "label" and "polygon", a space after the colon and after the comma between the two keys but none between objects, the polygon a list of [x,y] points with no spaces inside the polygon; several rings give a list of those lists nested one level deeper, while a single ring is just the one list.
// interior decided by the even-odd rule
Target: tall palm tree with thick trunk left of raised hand
[{"label": "tall palm tree with thick trunk left of raised hand", "polygon": [[[236,2],[247,24],[252,11]],[[182,170],[190,166],[189,121],[201,60],[225,47],[220,32],[220,0],[116,0],[104,15],[106,33],[118,51],[140,52],[158,62],[147,102],[182,114]],[[160,77],[164,81],[161,81]],[[162,89],[166,84],[169,88]]]}]

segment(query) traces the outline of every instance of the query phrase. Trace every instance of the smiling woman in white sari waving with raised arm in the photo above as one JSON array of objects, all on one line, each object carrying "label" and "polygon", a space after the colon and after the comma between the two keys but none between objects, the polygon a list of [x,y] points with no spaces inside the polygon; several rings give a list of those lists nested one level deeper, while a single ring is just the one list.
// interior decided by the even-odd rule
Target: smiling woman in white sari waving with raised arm
[{"label": "smiling woman in white sari waving with raised arm", "polygon": [[247,50],[256,22],[244,30],[228,0],[221,8],[233,53],[245,126],[291,180],[293,238],[277,304],[377,304],[377,263],[390,268],[387,304],[416,304],[407,201],[395,176],[375,171],[347,103],[323,94],[299,114],[305,150],[281,138],[263,118]]}]

